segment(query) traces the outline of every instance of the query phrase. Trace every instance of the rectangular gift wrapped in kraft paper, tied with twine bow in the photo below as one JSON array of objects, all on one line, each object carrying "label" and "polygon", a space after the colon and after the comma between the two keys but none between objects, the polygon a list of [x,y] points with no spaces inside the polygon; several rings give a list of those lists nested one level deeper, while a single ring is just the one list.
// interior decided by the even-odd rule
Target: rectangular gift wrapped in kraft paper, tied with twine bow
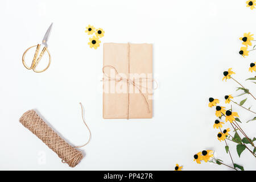
[{"label": "rectangular gift wrapped in kraft paper, tied with twine bow", "polygon": [[152,44],[104,43],[103,118],[152,118]]}]

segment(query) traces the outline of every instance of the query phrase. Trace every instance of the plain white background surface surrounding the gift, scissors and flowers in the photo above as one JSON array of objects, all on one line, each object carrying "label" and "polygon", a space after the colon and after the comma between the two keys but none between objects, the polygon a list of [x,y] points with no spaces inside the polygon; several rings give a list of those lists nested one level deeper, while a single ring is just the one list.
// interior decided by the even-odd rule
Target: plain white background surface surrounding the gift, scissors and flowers
[{"label": "plain white background surface surrounding the gift, scissors and flowers", "polygon": [[[240,36],[256,34],[255,11],[246,1],[5,1],[0,2],[0,169],[64,170],[228,170],[225,166],[193,162],[201,150],[214,150],[231,165],[225,143],[213,129],[214,108],[208,98],[225,105],[224,96],[235,92],[234,81],[222,82],[222,72],[233,68],[234,78],[244,81],[256,52],[238,55]],[[49,24],[52,64],[43,73],[22,64],[26,48],[41,43]],[[102,43],[89,48],[85,27],[105,30],[102,43],[152,43],[155,92],[154,118],[102,119]],[[246,107],[255,104],[250,96]],[[70,168],[19,123],[27,110],[36,109],[73,145],[88,139],[79,102],[92,140],[82,150],[84,159]],[[233,106],[241,121],[254,117]],[[256,107],[251,107],[256,110]],[[256,137],[255,121],[241,125]],[[226,124],[224,128],[230,127]],[[234,162],[255,170],[255,158],[244,151],[238,157],[229,143]],[[45,159],[45,161],[44,161]]]}]

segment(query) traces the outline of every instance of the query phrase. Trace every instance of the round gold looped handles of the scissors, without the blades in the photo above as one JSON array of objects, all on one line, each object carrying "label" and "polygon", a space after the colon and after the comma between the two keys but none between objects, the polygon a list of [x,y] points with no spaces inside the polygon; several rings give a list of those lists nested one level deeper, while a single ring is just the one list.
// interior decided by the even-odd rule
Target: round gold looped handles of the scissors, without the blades
[{"label": "round gold looped handles of the scissors, without the blades", "polygon": [[[33,61],[32,61],[32,64],[30,67],[27,66],[27,64],[25,63],[25,56],[26,56],[26,53],[29,49],[33,48],[33,47],[36,47],[36,51],[35,51],[35,55],[34,55],[34,58],[33,58]],[[31,46],[30,48],[28,48],[24,53],[23,53],[23,56],[22,56],[22,63],[24,65],[24,67],[26,67],[27,69],[32,69],[34,72],[36,73],[40,73],[40,72],[44,72],[46,71],[46,69],[48,69],[49,65],[51,64],[51,55],[47,49],[47,47],[44,47],[43,50],[41,51],[39,57],[38,57],[38,53],[39,53],[39,50],[40,50],[40,47],[41,45],[38,44],[37,46]],[[38,63],[40,62],[40,60],[42,59],[44,53],[47,51],[48,55],[49,55],[49,63],[47,65],[47,67],[43,70],[36,70],[36,67],[38,66]],[[38,58],[37,58],[38,57]]]}]

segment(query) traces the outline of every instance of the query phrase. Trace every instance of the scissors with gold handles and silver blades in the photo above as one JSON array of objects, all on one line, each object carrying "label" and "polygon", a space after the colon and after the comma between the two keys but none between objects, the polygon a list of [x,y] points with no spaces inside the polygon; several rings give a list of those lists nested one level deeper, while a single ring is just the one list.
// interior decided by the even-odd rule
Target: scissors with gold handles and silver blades
[{"label": "scissors with gold handles and silver blades", "polygon": [[[48,45],[47,45],[47,41],[48,41],[48,38],[49,38],[49,34],[51,33],[51,30],[52,30],[52,23],[51,25],[49,26],[48,30],[46,31],[46,34],[44,35],[44,38],[43,38],[43,42],[42,44],[44,45],[44,48],[42,49],[39,57],[38,57],[38,53],[39,53],[39,50],[40,50],[40,47],[41,47],[41,44],[38,44],[37,46],[32,46],[30,48],[28,48],[24,53],[23,53],[23,56],[22,56],[22,63],[24,65],[24,67],[26,67],[27,69],[32,69],[34,72],[36,73],[40,73],[40,72],[44,72],[46,71],[46,69],[49,68],[49,65],[51,64],[51,55],[47,49]],[[36,47],[36,51],[35,51],[35,55],[34,55],[34,58],[33,58],[33,61],[32,61],[32,64],[30,67],[27,66],[27,64],[25,63],[25,55],[27,53],[27,51],[33,47]],[[39,61],[42,59],[44,53],[47,51],[48,55],[49,55],[49,63],[47,65],[46,68],[44,68],[43,70],[36,70],[36,67],[38,66],[38,63]]]}]

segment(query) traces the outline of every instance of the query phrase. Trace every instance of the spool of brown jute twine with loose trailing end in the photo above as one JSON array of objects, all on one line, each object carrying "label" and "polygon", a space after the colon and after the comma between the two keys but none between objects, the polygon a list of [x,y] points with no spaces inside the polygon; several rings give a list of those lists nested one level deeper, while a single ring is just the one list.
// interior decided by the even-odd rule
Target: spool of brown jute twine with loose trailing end
[{"label": "spool of brown jute twine with loose trailing end", "polygon": [[[84,110],[82,108],[82,120],[84,121]],[[20,117],[19,122],[22,123],[24,127],[30,130],[33,134],[36,135],[40,140],[42,140],[51,150],[53,150],[63,163],[67,163],[70,167],[75,167],[83,158],[82,152],[77,150],[76,148],[84,147],[89,143],[91,138],[91,133],[89,127],[84,124],[89,130],[90,137],[88,142],[86,142],[82,146],[72,147],[69,145],[63,138],[61,138],[55,131],[49,127],[42,118],[36,114],[35,110],[28,110],[26,113]]]}]

